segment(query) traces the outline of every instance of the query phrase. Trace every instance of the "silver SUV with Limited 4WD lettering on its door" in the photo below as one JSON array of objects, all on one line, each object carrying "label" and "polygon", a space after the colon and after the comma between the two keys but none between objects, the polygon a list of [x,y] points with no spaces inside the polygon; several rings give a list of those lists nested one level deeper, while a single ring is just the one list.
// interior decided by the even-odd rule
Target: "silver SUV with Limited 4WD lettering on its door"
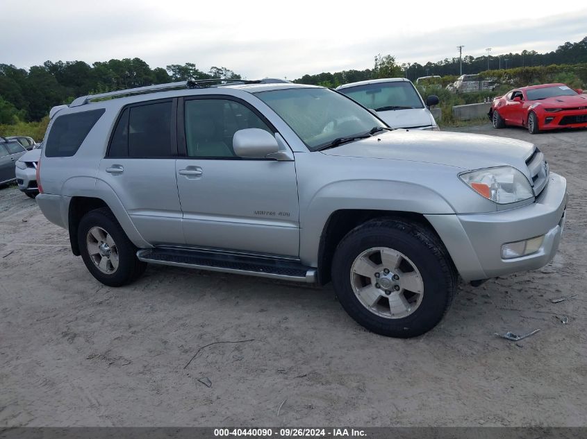
[{"label": "silver SUV with Limited 4WD lettering on its door", "polygon": [[38,205],[100,282],[147,263],[332,281],[361,325],[411,337],[458,275],[556,253],[566,181],[533,144],[391,130],[322,87],[209,85],[83,96],[49,123]]}]

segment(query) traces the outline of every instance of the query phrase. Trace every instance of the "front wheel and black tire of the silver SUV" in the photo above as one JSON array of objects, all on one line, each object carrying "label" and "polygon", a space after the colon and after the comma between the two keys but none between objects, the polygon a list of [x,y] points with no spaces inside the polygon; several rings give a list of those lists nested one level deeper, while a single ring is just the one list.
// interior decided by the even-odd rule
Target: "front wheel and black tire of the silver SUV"
[{"label": "front wheel and black tire of the silver SUV", "polygon": [[[381,268],[390,271],[386,274]],[[389,277],[394,274],[399,280]],[[349,316],[372,332],[398,338],[419,336],[435,327],[456,291],[456,270],[438,236],[428,227],[395,218],[368,221],[349,232],[336,248],[332,280]],[[421,292],[414,293],[417,289]]]}]

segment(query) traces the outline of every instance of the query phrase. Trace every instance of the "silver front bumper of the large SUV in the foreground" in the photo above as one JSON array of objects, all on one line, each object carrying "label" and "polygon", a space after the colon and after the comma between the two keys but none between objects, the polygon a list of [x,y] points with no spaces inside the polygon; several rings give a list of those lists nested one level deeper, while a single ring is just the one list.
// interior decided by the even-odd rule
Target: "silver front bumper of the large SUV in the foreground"
[{"label": "silver front bumper of the large SUV in the foreground", "polygon": [[[567,182],[550,173],[547,187],[534,203],[487,214],[427,215],[465,281],[536,270],[559,248],[568,200]],[[502,245],[545,235],[538,252],[502,259]]]}]

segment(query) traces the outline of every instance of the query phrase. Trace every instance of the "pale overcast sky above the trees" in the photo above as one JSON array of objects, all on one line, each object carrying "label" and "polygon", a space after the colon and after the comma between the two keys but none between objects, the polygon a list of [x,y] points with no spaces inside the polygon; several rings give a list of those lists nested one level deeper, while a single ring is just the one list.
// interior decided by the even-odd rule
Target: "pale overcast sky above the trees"
[{"label": "pale overcast sky above the trees", "polygon": [[587,36],[587,6],[571,3],[0,0],[0,62],[138,57],[152,68],[194,62],[249,79],[295,79],[371,68],[377,53],[435,62],[457,56],[458,44],[463,56],[487,47],[493,55],[552,51]]}]

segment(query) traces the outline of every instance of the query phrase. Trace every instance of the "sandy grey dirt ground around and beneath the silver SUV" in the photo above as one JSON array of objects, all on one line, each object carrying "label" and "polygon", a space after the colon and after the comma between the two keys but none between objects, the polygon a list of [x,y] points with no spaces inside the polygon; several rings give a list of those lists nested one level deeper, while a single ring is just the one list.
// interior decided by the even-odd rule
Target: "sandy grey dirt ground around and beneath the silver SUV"
[{"label": "sandy grey dirt ground around and beneath the silver SUV", "polygon": [[411,340],[365,331],[331,286],[150,266],[110,289],[1,189],[0,426],[586,425],[587,130],[462,130],[538,144],[568,179],[565,234],[551,264],[461,286]]}]

